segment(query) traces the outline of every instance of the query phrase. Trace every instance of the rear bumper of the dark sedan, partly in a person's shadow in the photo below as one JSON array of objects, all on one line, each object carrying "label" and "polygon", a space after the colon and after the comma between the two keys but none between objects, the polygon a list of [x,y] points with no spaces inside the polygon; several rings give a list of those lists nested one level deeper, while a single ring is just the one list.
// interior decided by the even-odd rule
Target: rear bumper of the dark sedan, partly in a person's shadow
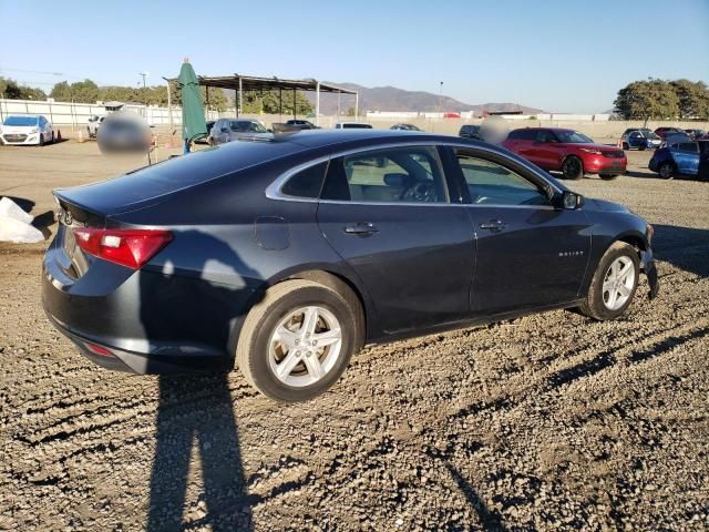
[{"label": "rear bumper of the dark sedan, partly in a person's shadow", "polygon": [[[58,253],[54,242],[42,266],[42,305],[86,358],[136,374],[233,369],[234,323],[245,311],[235,290],[100,259],[75,280],[58,264]],[[92,352],[92,346],[110,352]]]}]

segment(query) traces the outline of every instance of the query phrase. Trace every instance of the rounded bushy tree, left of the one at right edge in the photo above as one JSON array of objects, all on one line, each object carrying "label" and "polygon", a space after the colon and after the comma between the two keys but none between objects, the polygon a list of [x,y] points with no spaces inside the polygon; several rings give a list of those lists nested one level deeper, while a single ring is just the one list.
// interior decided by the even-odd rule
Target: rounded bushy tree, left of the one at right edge
[{"label": "rounded bushy tree, left of the one at right edge", "polygon": [[664,80],[634,81],[618,91],[614,104],[625,120],[666,120],[680,114],[679,98]]}]

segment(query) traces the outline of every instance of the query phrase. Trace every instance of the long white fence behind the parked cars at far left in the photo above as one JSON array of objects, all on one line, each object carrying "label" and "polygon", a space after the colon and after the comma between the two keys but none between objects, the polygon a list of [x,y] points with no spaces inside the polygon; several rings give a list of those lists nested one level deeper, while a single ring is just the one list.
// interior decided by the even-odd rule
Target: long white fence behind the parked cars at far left
[{"label": "long white fence behind the parked cars at far left", "polygon": [[[123,109],[140,114],[151,125],[168,125],[171,123],[167,108],[126,103]],[[70,125],[76,127],[89,123],[91,116],[104,116],[107,113],[104,106],[97,103],[0,100],[0,121],[4,121],[10,114],[42,114],[47,116],[53,125]],[[182,124],[182,109],[173,106],[172,114],[172,123],[174,125]],[[219,117],[218,114],[216,111],[209,111],[207,113],[207,120],[216,120]]]}]

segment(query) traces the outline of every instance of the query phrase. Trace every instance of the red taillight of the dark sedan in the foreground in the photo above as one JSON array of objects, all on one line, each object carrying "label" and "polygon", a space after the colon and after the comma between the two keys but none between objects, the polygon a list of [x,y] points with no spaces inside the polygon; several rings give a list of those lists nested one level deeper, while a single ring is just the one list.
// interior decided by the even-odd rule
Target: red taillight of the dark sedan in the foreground
[{"label": "red taillight of the dark sedan in the foreground", "polygon": [[84,252],[112,263],[140,269],[173,239],[163,229],[74,229],[76,244]]}]

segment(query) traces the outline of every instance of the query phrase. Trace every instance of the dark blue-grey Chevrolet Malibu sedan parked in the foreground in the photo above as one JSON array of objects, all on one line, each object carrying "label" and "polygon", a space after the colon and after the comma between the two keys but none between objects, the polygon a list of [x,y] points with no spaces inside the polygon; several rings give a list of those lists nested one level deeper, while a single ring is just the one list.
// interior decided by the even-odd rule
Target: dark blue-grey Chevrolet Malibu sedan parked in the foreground
[{"label": "dark blue-grey Chevrolet Malibu sedan parked in the foreground", "polygon": [[653,227],[491,144],[301,131],[54,191],[50,320],[91,360],[310,399],[363,345],[629,307]]}]

